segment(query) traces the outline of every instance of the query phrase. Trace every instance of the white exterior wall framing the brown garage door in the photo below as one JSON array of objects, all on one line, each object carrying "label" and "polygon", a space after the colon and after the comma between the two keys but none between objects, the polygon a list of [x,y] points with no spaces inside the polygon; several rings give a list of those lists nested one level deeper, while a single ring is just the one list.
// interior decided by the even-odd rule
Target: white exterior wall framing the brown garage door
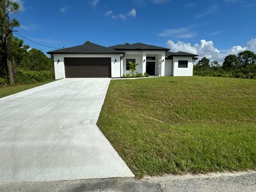
[{"label": "white exterior wall framing the brown garage door", "polygon": [[[65,78],[64,58],[111,58],[111,77],[121,77],[120,54],[53,54],[55,79]],[[115,62],[116,59],[116,62]],[[59,60],[59,62],[58,62]],[[123,74],[122,74],[123,75]]]}]

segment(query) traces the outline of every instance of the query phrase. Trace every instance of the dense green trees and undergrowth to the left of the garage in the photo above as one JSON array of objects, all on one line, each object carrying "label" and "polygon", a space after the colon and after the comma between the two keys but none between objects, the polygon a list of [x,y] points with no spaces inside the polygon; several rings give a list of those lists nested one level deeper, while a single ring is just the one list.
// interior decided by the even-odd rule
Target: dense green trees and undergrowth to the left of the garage
[{"label": "dense green trees and undergrowth to the left of the garage", "polygon": [[17,19],[19,4],[0,0],[0,84],[34,83],[54,78],[53,59],[42,51],[30,49],[22,39],[13,36],[20,26]]}]

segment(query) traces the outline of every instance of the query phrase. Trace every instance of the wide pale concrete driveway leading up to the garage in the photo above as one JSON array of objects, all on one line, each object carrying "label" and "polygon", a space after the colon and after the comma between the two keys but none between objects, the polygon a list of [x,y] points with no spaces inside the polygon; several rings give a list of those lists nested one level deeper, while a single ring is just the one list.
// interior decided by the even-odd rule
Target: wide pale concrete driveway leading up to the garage
[{"label": "wide pale concrete driveway leading up to the garage", "polygon": [[0,99],[0,182],[133,177],[96,125],[109,82],[61,79]]}]

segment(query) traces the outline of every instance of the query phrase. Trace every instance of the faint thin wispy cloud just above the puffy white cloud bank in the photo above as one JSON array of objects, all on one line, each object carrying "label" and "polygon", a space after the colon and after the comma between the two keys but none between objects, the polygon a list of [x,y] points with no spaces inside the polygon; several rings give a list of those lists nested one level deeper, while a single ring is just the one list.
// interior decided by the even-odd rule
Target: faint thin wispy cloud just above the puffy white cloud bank
[{"label": "faint thin wispy cloud just above the puffy white cloud bank", "polygon": [[174,37],[174,38],[193,38],[196,36],[195,32],[190,32],[190,28],[193,26],[182,27],[178,29],[165,29],[158,35],[161,37]]}]

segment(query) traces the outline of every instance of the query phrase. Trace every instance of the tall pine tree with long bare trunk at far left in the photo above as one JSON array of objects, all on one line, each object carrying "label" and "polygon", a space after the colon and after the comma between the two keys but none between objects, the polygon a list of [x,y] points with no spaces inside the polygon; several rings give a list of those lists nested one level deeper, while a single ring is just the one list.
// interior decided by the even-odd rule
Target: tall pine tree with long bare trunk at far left
[{"label": "tall pine tree with long bare trunk at far left", "polygon": [[17,13],[19,11],[19,4],[12,2],[10,0],[0,0],[0,36],[2,38],[2,60],[3,68],[7,69],[7,74],[9,77],[9,83],[13,84],[14,82],[14,67],[11,61],[10,49],[8,38],[13,32],[14,27],[20,25],[17,19],[10,19],[11,13]]}]

